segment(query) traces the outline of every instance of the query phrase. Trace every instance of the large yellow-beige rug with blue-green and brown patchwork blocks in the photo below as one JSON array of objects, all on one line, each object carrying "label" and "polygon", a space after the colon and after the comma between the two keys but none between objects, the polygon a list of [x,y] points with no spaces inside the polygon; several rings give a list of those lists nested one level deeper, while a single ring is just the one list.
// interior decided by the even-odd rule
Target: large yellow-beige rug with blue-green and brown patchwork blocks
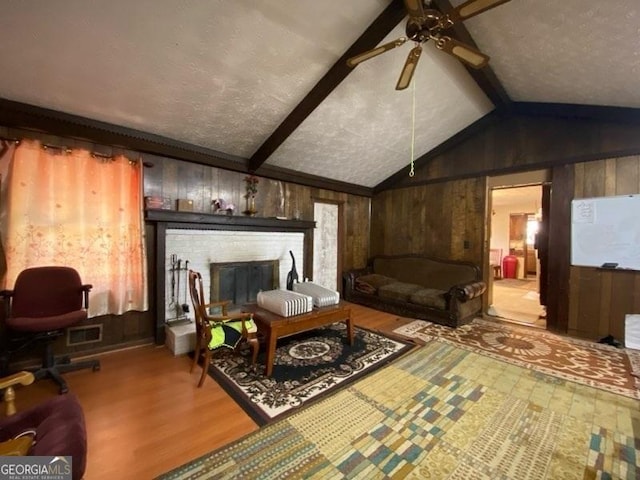
[{"label": "large yellow-beige rug with blue-green and brown patchwork blocks", "polygon": [[160,478],[638,478],[637,402],[430,342]]}]

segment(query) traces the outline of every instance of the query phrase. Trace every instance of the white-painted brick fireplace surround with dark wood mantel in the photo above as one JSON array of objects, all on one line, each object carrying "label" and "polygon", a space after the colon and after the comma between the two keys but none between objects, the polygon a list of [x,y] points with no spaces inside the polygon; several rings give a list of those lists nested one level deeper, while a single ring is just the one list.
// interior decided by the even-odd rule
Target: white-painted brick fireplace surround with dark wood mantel
[{"label": "white-painted brick fireplace surround with dark wood mantel", "polygon": [[[193,318],[185,270],[187,260],[189,269],[201,273],[205,295],[210,294],[212,287],[220,291],[219,283],[212,285],[212,265],[270,264],[273,266],[271,284],[285,288],[292,265],[289,251],[292,251],[300,278],[312,272],[315,222],[173,210],[147,210],[145,219],[154,230],[155,262],[150,266],[153,276],[150,287],[155,281],[156,343],[159,344],[165,340],[165,323],[184,318],[182,304],[188,305],[186,315]],[[173,275],[177,272],[171,271],[171,255],[181,260],[179,289],[178,279]],[[261,285],[265,285],[264,281]]]}]

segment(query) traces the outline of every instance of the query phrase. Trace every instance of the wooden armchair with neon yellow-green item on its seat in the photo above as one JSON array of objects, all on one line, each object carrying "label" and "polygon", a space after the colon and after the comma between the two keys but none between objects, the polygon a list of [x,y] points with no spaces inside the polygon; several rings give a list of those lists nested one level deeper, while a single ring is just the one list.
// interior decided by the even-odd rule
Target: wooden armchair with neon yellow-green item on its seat
[{"label": "wooden armchair with neon yellow-green item on its seat", "polygon": [[211,355],[219,348],[235,350],[243,340],[251,347],[252,365],[258,358],[258,337],[252,313],[228,313],[228,300],[204,303],[202,275],[189,270],[189,293],[196,318],[196,346],[191,372],[203,356],[202,375],[198,387],[202,387],[211,364]]}]

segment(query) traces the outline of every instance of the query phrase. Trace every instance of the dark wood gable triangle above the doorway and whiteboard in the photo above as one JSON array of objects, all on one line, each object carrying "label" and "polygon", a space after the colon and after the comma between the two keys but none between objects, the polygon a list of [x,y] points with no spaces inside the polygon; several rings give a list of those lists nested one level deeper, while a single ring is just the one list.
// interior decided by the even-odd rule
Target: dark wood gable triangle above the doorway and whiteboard
[{"label": "dark wood gable triangle above the doorway and whiteboard", "polygon": [[463,143],[425,162],[418,160],[411,186],[448,178],[550,168],[640,152],[638,125],[545,116],[494,116]]}]

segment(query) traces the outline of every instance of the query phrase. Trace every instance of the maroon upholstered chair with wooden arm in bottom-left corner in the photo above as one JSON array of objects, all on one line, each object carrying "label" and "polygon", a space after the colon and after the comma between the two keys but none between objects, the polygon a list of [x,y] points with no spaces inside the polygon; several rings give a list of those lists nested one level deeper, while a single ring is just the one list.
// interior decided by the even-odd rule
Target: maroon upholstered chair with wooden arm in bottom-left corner
[{"label": "maroon upholstered chair with wooden arm in bottom-left corner", "polygon": [[[73,395],[56,396],[16,413],[16,385],[34,381],[30,372],[0,378],[6,417],[0,418],[0,457],[71,457],[71,478],[80,480],[87,466],[87,431],[84,412]],[[35,477],[34,477],[35,478]]]}]

